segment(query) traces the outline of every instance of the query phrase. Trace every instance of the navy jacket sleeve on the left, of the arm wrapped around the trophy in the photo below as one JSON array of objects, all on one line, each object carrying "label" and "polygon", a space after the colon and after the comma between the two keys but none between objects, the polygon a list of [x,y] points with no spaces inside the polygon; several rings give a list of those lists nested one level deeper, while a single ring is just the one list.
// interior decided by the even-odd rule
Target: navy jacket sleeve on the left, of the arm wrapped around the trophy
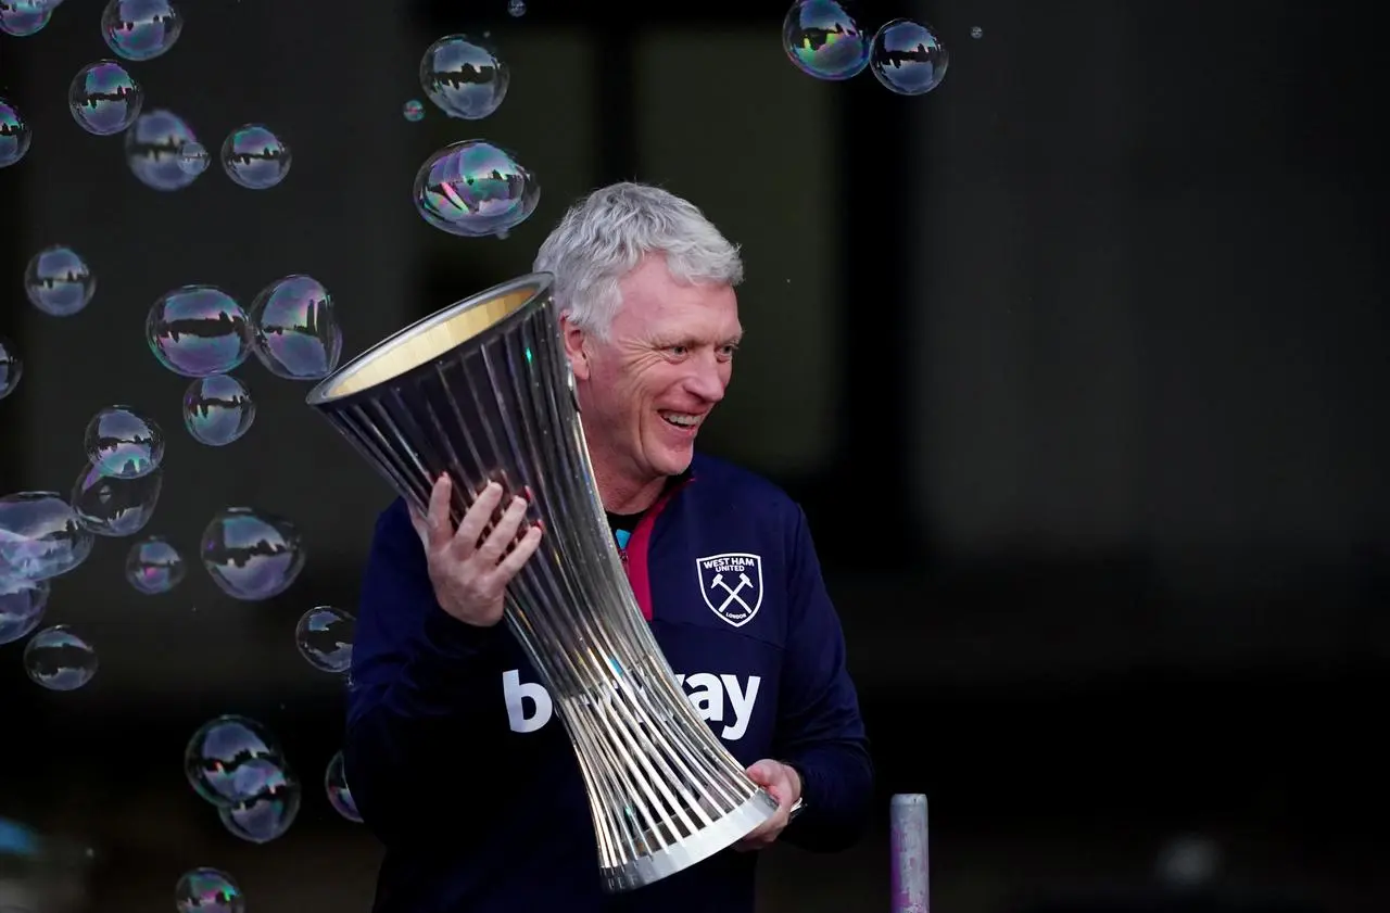
[{"label": "navy jacket sleeve on the left, of the arm wrapped around the trophy", "polygon": [[502,813],[499,777],[524,775],[500,692],[513,643],[503,624],[471,627],[439,607],[404,504],[385,510],[361,582],[343,762],[388,848],[439,831],[466,845],[464,823],[482,839]]}]

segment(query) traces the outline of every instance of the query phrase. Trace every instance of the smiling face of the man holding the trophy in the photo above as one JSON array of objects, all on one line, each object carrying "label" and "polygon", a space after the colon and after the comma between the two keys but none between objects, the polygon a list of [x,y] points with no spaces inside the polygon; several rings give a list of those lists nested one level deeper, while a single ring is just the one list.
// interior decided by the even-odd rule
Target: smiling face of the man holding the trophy
[{"label": "smiling face of the man holding the trophy", "polygon": [[634,513],[689,467],[742,327],[733,288],[677,282],[660,256],[644,257],[619,289],[607,339],[566,322],[564,342],[603,503]]}]

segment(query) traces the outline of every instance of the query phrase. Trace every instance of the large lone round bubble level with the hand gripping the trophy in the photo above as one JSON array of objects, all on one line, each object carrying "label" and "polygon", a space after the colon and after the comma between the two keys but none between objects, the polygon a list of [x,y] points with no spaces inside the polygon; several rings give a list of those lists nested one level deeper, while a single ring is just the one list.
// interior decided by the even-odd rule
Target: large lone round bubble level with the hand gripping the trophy
[{"label": "large lone round bubble level with the hand gripping the trophy", "polygon": [[213,517],[199,553],[218,589],[245,602],[281,595],[304,570],[295,524],[250,507],[228,507]]}]

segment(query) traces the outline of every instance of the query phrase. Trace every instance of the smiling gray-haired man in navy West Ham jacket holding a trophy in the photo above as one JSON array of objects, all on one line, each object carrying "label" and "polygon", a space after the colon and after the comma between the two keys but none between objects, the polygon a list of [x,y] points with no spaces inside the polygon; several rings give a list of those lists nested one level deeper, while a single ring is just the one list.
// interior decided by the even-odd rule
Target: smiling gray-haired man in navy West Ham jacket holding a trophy
[{"label": "smiling gray-haired man in navy West Ham jacket holding a trophy", "polygon": [[[620,183],[571,208],[535,268],[555,275],[594,475],[642,613],[780,809],[728,852],[605,895],[574,752],[499,624],[542,531],[523,529],[524,503],[502,504],[496,485],[450,528],[443,477],[428,516],[400,500],[382,513],[363,584],[343,750],[386,845],[375,913],[751,913],[752,850],[849,845],[873,771],[805,516],[694,453],[742,332],[738,250],[685,200]],[[720,568],[738,585],[713,586]]]}]

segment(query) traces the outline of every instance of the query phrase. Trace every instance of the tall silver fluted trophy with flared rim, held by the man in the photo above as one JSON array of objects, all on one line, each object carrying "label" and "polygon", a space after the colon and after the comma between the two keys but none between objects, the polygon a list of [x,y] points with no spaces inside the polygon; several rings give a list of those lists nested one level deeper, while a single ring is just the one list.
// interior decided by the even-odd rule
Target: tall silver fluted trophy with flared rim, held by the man
[{"label": "tall silver fluted trophy with flared rim, held by the man", "polygon": [[407,327],[325,378],[309,404],[417,511],[441,472],[455,479],[455,523],[488,481],[506,489],[503,507],[528,499],[545,535],[507,588],[505,618],[559,709],[617,892],[730,846],[777,802],[695,713],[632,596],[550,282],[521,277]]}]

